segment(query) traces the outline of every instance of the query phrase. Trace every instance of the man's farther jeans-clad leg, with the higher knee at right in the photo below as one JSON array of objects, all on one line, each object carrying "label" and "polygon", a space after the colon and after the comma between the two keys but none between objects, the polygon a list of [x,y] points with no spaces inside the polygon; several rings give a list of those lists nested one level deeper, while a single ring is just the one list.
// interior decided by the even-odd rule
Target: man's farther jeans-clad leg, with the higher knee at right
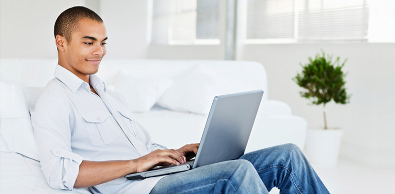
[{"label": "man's farther jeans-clad leg, with the higher knee at right", "polygon": [[329,194],[316,172],[294,144],[284,144],[242,155],[250,161],[268,191],[280,194]]}]

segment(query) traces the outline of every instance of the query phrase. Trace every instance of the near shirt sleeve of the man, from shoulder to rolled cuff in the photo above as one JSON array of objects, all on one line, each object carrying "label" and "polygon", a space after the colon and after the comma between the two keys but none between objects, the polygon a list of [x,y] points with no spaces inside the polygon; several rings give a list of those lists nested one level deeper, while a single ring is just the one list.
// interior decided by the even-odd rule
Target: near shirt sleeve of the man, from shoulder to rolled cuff
[{"label": "near shirt sleeve of the man, from shoulder to rolled cuff", "polygon": [[82,157],[71,148],[71,107],[62,96],[48,93],[44,91],[31,110],[41,170],[51,188],[73,190]]}]

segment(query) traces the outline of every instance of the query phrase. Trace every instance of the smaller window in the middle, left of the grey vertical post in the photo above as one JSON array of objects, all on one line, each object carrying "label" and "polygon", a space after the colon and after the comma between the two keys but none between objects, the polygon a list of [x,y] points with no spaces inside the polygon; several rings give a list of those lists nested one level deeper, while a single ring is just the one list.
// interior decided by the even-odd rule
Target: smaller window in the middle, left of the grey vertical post
[{"label": "smaller window in the middle, left of the grey vertical post", "polygon": [[152,44],[219,44],[219,0],[153,0]]}]

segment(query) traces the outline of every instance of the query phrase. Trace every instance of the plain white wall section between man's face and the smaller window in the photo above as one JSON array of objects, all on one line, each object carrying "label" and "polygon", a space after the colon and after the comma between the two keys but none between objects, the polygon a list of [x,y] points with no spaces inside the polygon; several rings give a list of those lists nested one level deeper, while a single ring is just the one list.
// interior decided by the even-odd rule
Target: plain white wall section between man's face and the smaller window
[{"label": "plain white wall section between man's face and the smaller window", "polygon": [[101,0],[107,29],[105,58],[146,58],[148,0]]}]

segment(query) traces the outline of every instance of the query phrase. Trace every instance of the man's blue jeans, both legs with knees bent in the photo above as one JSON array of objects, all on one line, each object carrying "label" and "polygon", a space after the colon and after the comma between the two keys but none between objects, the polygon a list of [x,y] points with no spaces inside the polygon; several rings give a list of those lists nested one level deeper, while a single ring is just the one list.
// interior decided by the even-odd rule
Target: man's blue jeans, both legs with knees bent
[{"label": "man's blue jeans, both legs with knees bent", "polygon": [[299,147],[284,144],[162,178],[150,194],[329,194]]}]

